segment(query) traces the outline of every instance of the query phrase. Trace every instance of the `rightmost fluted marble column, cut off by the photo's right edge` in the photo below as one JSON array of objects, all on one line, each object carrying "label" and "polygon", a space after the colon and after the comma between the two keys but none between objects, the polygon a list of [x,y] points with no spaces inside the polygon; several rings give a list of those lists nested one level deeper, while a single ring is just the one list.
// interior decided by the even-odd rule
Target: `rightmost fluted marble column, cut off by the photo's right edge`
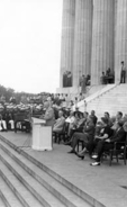
[{"label": "rightmost fluted marble column, cut off by the photo's right edge", "polygon": [[117,1],[115,39],[115,81],[120,82],[121,61],[127,70],[127,0]]}]

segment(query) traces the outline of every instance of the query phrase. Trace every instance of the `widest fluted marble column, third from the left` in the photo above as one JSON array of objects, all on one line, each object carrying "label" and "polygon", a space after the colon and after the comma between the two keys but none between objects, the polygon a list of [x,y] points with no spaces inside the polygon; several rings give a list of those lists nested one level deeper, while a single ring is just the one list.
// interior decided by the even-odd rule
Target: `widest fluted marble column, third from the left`
[{"label": "widest fluted marble column, third from the left", "polygon": [[93,0],[92,85],[100,84],[102,72],[114,69],[114,21],[114,0]]}]

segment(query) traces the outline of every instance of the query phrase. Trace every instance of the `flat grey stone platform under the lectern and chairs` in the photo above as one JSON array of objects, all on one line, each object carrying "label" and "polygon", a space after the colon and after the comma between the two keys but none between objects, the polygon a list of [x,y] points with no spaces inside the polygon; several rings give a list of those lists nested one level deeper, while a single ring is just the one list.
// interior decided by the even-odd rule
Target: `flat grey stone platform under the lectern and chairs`
[{"label": "flat grey stone platform under the lectern and chairs", "polygon": [[[109,166],[105,160],[101,166],[91,167],[90,158],[86,155],[81,161],[73,154],[68,154],[69,146],[54,144],[53,151],[38,152],[31,149],[32,136],[25,133],[2,132],[0,135],[12,143],[17,151],[23,151],[34,158],[43,167],[60,175],[72,187],[84,192],[86,200],[92,200],[96,205],[106,207],[125,207],[127,205],[127,166],[123,160],[117,164],[114,160]],[[76,188],[75,188],[76,189]],[[91,202],[92,203],[92,202]]]}]

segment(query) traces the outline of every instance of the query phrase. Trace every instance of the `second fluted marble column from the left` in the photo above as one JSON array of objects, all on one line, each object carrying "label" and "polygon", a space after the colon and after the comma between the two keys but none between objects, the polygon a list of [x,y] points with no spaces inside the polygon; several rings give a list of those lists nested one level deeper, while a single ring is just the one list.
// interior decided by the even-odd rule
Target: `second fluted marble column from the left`
[{"label": "second fluted marble column from the left", "polygon": [[77,0],[75,8],[75,39],[73,86],[79,86],[82,74],[90,74],[92,42],[92,0]]}]

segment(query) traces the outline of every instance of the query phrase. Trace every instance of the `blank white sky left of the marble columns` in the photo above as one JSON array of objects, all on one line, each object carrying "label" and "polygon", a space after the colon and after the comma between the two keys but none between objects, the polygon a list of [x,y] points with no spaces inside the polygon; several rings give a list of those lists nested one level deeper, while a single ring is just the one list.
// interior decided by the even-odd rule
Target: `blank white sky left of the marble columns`
[{"label": "blank white sky left of the marble columns", "polygon": [[15,91],[59,87],[63,0],[0,0],[0,85]]}]

